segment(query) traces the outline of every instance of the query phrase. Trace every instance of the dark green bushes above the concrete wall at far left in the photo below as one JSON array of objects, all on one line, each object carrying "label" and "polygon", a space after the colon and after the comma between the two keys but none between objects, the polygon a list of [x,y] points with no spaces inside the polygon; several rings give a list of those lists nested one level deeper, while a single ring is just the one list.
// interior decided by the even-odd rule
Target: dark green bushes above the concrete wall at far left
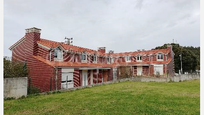
[{"label": "dark green bushes above the concrete wall at far left", "polygon": [[4,78],[27,77],[28,70],[24,63],[10,61],[4,57]]}]

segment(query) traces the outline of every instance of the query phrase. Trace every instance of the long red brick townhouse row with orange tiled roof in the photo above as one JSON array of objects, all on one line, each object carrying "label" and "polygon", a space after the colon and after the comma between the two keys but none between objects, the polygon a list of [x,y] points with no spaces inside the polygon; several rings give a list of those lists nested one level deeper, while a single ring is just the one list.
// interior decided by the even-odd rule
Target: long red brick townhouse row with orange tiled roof
[{"label": "long red brick townhouse row with orange tiled roof", "polygon": [[133,76],[174,75],[173,51],[167,49],[106,53],[40,38],[41,29],[26,34],[10,47],[12,60],[27,63],[31,84],[42,92],[116,80],[119,67],[129,67]]}]

